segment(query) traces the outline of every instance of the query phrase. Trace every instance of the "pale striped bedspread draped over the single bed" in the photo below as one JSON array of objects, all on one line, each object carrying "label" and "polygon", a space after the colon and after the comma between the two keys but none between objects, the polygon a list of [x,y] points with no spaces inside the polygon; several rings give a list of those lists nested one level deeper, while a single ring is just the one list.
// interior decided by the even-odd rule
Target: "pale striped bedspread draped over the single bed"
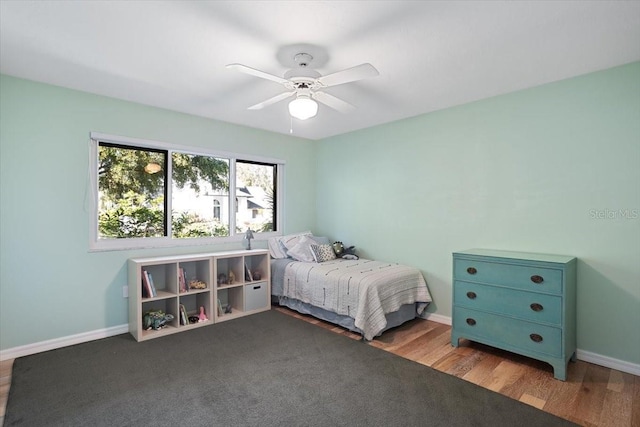
[{"label": "pale striped bedspread draped over the single bed", "polygon": [[367,259],[291,262],[284,270],[282,293],[353,317],[367,340],[385,328],[386,313],[418,303],[416,314],[421,314],[431,302],[418,269]]}]

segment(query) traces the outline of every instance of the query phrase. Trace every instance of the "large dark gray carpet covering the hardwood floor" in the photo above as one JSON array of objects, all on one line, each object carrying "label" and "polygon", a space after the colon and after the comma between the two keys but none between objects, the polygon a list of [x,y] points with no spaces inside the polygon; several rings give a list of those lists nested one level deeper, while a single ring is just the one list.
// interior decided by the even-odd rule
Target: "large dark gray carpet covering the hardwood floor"
[{"label": "large dark gray carpet covering the hardwood floor", "polygon": [[19,358],[6,426],[569,426],[277,311]]}]

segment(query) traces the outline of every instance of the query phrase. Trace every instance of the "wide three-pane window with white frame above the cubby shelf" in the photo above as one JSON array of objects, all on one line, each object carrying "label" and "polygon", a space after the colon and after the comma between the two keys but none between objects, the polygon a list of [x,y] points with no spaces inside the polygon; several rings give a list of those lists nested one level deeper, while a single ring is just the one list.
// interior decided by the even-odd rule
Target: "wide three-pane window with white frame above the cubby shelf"
[{"label": "wide three-pane window with white frame above the cubby shelf", "polygon": [[282,161],[91,136],[92,249],[239,241],[247,229],[265,237],[278,230]]}]

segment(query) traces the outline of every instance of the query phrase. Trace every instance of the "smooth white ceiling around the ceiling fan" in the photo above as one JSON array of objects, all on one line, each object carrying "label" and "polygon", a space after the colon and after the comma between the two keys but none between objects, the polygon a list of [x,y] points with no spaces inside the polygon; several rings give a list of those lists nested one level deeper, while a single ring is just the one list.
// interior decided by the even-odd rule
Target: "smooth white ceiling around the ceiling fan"
[{"label": "smooth white ceiling around the ceiling fan", "polygon": [[[303,45],[303,46],[300,46]],[[326,92],[293,134],[321,139],[640,60],[638,1],[7,1],[0,72],[289,134],[278,76],[306,51],[322,75],[378,77]]]}]

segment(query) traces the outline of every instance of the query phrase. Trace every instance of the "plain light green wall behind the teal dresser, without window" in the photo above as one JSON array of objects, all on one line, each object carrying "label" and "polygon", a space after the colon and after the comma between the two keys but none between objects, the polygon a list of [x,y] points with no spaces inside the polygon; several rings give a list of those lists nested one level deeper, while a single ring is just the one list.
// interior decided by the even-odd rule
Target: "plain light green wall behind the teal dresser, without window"
[{"label": "plain light green wall behind the teal dresser, without window", "polygon": [[[640,363],[640,63],[328,138],[317,153],[317,232],[420,268],[430,311],[451,316],[455,250],[573,255],[578,348]],[[608,217],[620,210],[633,218]]]}]

